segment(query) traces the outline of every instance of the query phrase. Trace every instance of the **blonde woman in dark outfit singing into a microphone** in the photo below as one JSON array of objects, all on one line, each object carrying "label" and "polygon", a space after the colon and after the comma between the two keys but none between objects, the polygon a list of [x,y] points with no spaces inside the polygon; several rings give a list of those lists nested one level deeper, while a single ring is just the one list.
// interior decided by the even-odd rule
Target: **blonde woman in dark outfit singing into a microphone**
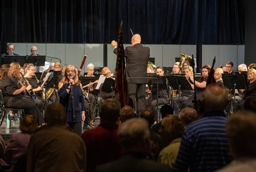
[{"label": "blonde woman in dark outfit singing into a microphone", "polygon": [[85,120],[84,97],[75,66],[68,65],[65,68],[58,90],[60,103],[66,107],[66,122],[75,133],[82,135],[82,122]]}]

